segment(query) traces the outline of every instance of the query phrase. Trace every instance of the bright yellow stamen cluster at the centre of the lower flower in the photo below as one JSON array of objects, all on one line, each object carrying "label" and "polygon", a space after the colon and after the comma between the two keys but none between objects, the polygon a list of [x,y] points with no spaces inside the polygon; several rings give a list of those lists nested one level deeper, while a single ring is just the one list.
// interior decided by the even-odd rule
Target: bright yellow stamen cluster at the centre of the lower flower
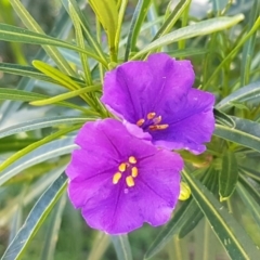
[{"label": "bright yellow stamen cluster at the centre of the lower flower", "polygon": [[118,166],[118,171],[113,176],[113,184],[117,184],[123,174],[126,177],[127,186],[134,186],[134,178],[138,177],[138,167],[134,166],[138,162],[134,156],[130,156],[127,162],[121,162]]}]

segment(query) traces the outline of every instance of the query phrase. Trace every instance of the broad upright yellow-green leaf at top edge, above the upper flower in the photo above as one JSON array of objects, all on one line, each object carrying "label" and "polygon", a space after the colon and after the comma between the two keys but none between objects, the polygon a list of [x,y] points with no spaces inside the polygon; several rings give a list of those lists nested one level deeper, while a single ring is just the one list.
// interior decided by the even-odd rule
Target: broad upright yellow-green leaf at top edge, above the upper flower
[{"label": "broad upright yellow-green leaf at top edge, above the upper flower", "polygon": [[118,23],[118,12],[115,0],[89,0],[90,6],[93,9],[108,38],[108,44],[112,61],[116,62],[115,56],[115,38]]}]

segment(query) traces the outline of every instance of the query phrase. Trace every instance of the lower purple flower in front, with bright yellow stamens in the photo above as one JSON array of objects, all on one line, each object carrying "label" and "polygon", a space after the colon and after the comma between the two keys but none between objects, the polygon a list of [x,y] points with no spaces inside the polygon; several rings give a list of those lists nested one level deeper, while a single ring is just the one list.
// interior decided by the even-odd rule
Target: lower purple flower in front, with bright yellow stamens
[{"label": "lower purple flower in front, with bright yellow stamens", "polygon": [[115,119],[87,122],[66,169],[68,196],[87,223],[109,234],[166,223],[180,193],[182,158]]}]

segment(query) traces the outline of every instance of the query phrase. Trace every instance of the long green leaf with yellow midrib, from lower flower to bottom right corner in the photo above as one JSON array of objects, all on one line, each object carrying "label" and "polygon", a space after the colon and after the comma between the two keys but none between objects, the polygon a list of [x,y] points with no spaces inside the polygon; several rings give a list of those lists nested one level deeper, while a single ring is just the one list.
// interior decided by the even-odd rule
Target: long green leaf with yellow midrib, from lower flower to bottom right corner
[{"label": "long green leaf with yellow midrib, from lower flower to bottom right corner", "polygon": [[190,184],[194,199],[231,259],[258,259],[260,251],[223,205],[192,174],[183,171],[183,176]]}]

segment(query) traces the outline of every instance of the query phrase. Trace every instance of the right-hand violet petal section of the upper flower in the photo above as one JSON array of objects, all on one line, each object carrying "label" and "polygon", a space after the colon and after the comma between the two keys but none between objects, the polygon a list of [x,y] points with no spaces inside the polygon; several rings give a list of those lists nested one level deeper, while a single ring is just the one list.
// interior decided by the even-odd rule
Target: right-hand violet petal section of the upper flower
[{"label": "right-hand violet petal section of the upper flower", "polygon": [[213,104],[213,94],[196,89],[191,89],[182,99],[168,102],[160,115],[169,128],[150,132],[154,143],[171,150],[203,153],[204,143],[210,141],[214,130]]}]

